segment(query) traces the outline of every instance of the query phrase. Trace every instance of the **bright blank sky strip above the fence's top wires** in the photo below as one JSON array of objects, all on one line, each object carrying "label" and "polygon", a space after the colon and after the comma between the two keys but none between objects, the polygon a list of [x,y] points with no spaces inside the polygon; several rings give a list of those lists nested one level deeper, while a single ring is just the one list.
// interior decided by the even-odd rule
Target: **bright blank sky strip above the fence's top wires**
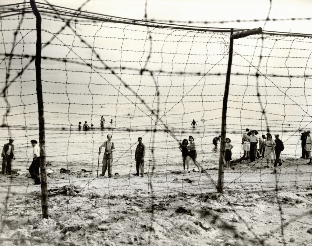
[{"label": "bright blank sky strip above the fence's top wires", "polygon": [[[0,0],[2,5],[11,4],[12,0]],[[312,12],[310,0],[50,0],[53,5],[77,9],[86,2],[82,10],[100,14],[144,19],[145,6],[147,19],[192,21],[192,22],[222,22],[263,20],[269,13],[270,19],[266,24],[261,22],[226,22],[203,24],[210,27],[255,28],[262,27],[267,31],[284,31],[312,33],[310,21],[280,20],[291,18],[309,18]],[[271,7],[271,10],[270,10]],[[193,24],[191,24],[193,25]],[[199,24],[198,24],[199,25]]]}]

